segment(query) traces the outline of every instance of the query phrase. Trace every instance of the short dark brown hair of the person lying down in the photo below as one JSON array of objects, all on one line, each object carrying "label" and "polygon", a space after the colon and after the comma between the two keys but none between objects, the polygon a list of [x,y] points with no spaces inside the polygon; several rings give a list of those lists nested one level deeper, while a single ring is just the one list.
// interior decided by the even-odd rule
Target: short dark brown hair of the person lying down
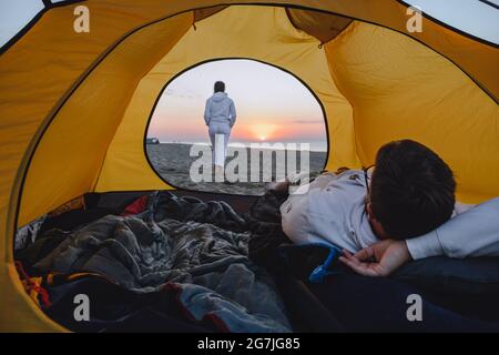
[{"label": "short dark brown hair of the person lying down", "polygon": [[426,234],[450,219],[456,181],[429,148],[403,140],[385,144],[376,156],[370,207],[389,237]]}]

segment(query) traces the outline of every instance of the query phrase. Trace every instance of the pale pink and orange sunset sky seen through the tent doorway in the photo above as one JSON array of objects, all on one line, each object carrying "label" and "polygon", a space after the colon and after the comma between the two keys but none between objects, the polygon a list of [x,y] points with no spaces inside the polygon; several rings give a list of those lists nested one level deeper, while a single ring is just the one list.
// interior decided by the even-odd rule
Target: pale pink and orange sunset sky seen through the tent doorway
[{"label": "pale pink and orange sunset sky seen through the tent doorway", "polygon": [[323,112],[308,89],[293,75],[251,60],[208,62],[177,77],[160,99],[147,136],[207,143],[204,105],[217,80],[225,82],[236,106],[231,142],[297,142],[327,149]]}]

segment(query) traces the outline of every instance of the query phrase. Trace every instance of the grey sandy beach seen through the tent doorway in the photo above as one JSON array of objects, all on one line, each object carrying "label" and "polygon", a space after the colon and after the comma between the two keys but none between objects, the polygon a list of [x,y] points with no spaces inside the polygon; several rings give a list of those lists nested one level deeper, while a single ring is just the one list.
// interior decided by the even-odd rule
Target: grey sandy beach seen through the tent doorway
[{"label": "grey sandy beach seen through the tent doorway", "polygon": [[[272,151],[272,166],[265,164],[263,166],[263,155],[262,149],[257,149],[261,166],[259,182],[236,182],[234,184],[225,184],[221,182],[193,182],[190,178],[190,170],[192,164],[198,160],[197,156],[190,156],[192,144],[182,143],[161,143],[161,144],[146,144],[149,159],[161,178],[173,186],[196,190],[196,191],[208,191],[208,192],[222,192],[222,193],[234,193],[244,195],[261,195],[264,193],[265,182],[263,182],[262,172],[272,171],[272,180],[275,181],[276,178],[276,163],[275,156],[276,151]],[[197,146],[200,148],[200,146]],[[268,150],[267,150],[268,152]],[[227,152],[227,163],[231,161],[231,155],[234,153],[233,148],[228,148]],[[251,181],[251,156],[255,151],[246,149],[246,154],[248,156],[247,161],[247,181]],[[296,154],[295,151],[287,151],[287,154]],[[296,154],[297,166],[299,166],[301,154]],[[309,171],[310,175],[319,173],[326,162],[326,152],[309,152]]]}]

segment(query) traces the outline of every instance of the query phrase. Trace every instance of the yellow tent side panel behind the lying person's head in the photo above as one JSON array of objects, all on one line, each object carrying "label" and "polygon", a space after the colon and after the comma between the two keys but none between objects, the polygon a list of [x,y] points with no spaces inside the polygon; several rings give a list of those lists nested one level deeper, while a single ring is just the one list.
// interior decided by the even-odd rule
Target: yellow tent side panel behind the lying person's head
[{"label": "yellow tent side panel behind the lying person's head", "polygon": [[355,21],[325,45],[335,82],[354,106],[363,164],[374,163],[384,143],[410,136],[452,168],[459,201],[499,195],[498,105],[445,58],[413,42]]}]

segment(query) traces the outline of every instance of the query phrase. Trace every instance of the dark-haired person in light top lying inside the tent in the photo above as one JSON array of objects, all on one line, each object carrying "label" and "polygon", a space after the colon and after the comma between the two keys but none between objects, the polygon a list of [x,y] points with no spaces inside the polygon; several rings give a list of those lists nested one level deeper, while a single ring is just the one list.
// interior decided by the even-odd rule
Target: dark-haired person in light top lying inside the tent
[{"label": "dark-haired person in light top lying inside the tent", "polygon": [[[390,142],[374,168],[324,173],[291,194],[281,205],[287,237],[334,245],[344,251],[343,263],[371,276],[410,258],[499,255],[499,199],[457,202],[454,173],[434,151],[411,140]],[[285,193],[288,185],[271,190]]]}]

